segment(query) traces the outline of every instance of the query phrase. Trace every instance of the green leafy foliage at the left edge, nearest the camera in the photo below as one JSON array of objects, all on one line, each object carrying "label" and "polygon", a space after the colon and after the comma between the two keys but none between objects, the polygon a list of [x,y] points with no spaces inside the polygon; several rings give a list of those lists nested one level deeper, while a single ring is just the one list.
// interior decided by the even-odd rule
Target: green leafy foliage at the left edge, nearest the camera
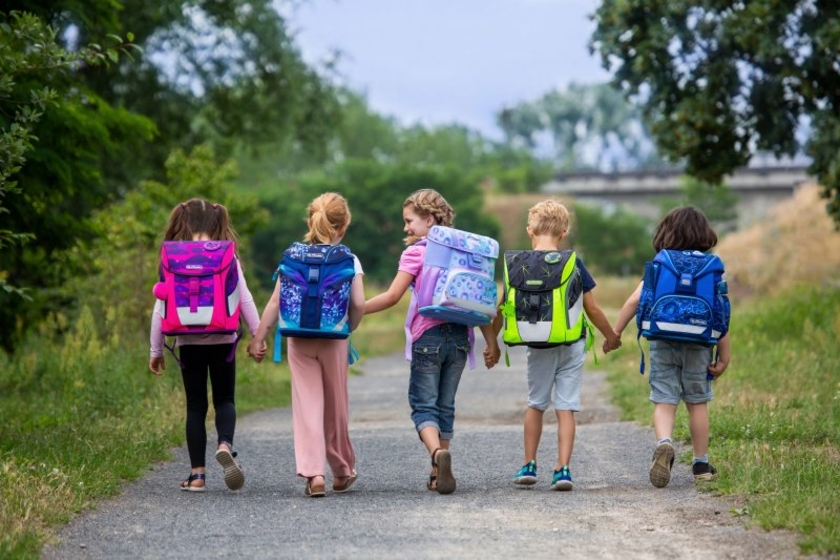
[{"label": "green leafy foliage at the left edge, nearest the camera", "polygon": [[[25,13],[0,13],[0,340],[14,341],[58,299],[66,278],[54,254],[89,233],[87,213],[109,199],[102,166],[145,138],[146,119],[110,106],[76,83],[81,69],[112,65],[131,48],[118,36],[73,52]],[[103,46],[105,45],[105,46]],[[21,298],[23,291],[29,301]]]}]

